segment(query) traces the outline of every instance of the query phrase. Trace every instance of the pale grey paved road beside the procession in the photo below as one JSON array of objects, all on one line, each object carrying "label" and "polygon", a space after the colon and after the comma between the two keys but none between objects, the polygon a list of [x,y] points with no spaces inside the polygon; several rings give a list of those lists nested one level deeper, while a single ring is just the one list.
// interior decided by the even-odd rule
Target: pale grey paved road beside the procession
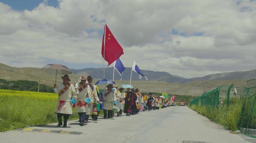
[{"label": "pale grey paved road beside the procession", "polygon": [[[1,143],[249,143],[240,135],[231,134],[188,107],[168,107],[158,111],[142,112],[90,121],[80,127],[78,121],[68,121],[68,128],[54,124],[33,129],[82,132],[80,135],[39,131],[7,131],[0,133]],[[46,131],[47,131],[46,130]],[[199,142],[194,142],[199,143]]]}]

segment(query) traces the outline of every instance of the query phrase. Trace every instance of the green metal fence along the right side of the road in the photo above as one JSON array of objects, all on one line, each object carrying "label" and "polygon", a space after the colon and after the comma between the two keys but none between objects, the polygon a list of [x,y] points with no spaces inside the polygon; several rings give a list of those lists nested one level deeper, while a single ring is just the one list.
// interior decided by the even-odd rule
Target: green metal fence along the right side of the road
[{"label": "green metal fence along the right side of the road", "polygon": [[248,80],[246,87],[236,87],[233,84],[220,85],[194,98],[190,105],[207,106],[208,110],[218,108],[220,112],[229,110],[230,105],[238,105],[239,108],[241,107],[240,116],[237,119],[238,130],[240,133],[256,138],[256,79]]}]

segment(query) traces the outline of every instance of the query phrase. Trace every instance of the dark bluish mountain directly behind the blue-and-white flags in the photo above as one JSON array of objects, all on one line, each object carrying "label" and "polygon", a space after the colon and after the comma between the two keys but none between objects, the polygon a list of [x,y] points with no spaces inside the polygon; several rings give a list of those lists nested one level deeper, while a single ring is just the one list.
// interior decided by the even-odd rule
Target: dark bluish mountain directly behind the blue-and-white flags
[{"label": "dark bluish mountain directly behind the blue-and-white flags", "polygon": [[[71,69],[72,73],[77,75],[91,75],[96,79],[103,79],[103,68],[86,68],[81,70]],[[164,71],[151,71],[151,70],[141,70],[141,72],[148,78],[148,80],[158,81],[158,82],[168,82],[168,83],[182,83],[185,78],[171,75],[170,73]],[[106,79],[113,79],[113,67],[105,68]],[[122,80],[130,80],[131,77],[131,67],[126,67],[126,70],[123,72]],[[132,71],[132,80],[146,80],[138,78],[139,75]],[[115,70],[114,80],[119,80],[120,75]]]}]

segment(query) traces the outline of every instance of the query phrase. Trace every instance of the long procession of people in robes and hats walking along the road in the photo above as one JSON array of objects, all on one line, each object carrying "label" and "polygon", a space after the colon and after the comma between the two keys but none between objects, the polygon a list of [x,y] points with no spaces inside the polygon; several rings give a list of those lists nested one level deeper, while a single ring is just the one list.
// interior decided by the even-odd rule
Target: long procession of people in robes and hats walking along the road
[{"label": "long procession of people in robes and hats walking along the road", "polygon": [[[67,127],[67,121],[73,114],[72,108],[79,114],[79,125],[83,126],[91,115],[97,120],[100,110],[104,111],[104,119],[113,118],[115,112],[117,117],[136,115],[139,112],[159,110],[168,106],[175,106],[175,102],[165,98],[154,96],[151,92],[140,93],[138,89],[115,87],[110,84],[107,89],[100,91],[92,84],[91,76],[81,76],[79,82],[72,85],[67,74],[61,77],[63,83],[54,85],[54,91],[59,94],[55,113],[58,118],[57,127]],[[64,123],[62,123],[64,117]]]}]

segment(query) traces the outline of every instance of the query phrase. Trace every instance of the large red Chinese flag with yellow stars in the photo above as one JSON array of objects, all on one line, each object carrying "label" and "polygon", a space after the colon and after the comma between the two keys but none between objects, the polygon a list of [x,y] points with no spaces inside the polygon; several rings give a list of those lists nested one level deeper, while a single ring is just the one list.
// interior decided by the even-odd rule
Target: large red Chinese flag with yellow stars
[{"label": "large red Chinese flag with yellow stars", "polygon": [[[105,25],[102,38],[102,48],[101,55],[104,58],[104,46],[105,46],[105,60],[110,64],[116,61],[122,54],[124,54],[123,48],[116,41],[116,38],[113,36],[107,25]],[[106,35],[106,36],[105,36]],[[104,42],[105,40],[105,42]],[[108,66],[109,66],[108,65]]]}]

